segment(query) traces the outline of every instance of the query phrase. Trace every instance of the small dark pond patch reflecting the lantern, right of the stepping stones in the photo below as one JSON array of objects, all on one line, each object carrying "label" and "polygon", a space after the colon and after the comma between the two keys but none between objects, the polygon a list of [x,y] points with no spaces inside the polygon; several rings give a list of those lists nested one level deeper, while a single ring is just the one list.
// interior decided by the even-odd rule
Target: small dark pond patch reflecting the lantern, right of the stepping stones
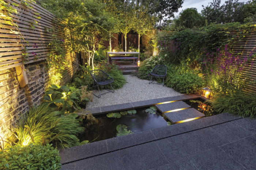
[{"label": "small dark pond patch reflecting the lantern, right of the stepping stones", "polygon": [[194,99],[193,102],[192,100],[185,100],[183,102],[187,103],[189,106],[195,108],[196,110],[202,112],[203,114],[205,114],[206,117],[219,114],[219,112],[212,110],[210,105],[208,105],[207,103],[204,103],[205,100],[201,98]]}]

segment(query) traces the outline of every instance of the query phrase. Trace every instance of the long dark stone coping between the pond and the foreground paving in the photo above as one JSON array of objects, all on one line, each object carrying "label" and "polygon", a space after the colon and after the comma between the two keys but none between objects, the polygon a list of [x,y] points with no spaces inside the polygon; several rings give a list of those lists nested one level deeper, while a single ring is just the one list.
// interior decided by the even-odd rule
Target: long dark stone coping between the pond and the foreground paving
[{"label": "long dark stone coping between the pond and the foreground paving", "polygon": [[188,133],[191,131],[204,129],[217,124],[230,122],[233,120],[242,119],[238,116],[233,116],[229,113],[218,114],[201,119],[196,119],[190,122],[173,124],[167,127],[142,131],[139,133],[129,134],[122,137],[106,139],[98,142],[88,143],[86,145],[71,147],[60,150],[61,163],[67,164],[97,155],[103,155],[113,151],[126,149],[133,146],[142,145],[144,143],[158,141],[168,137],[173,137],[179,134]]}]

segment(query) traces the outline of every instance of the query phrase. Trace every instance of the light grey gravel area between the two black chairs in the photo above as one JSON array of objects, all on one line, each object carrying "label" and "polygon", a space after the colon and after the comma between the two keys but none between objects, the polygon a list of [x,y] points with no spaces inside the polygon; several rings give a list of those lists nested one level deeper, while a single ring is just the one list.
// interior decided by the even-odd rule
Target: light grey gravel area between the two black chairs
[{"label": "light grey gravel area between the two black chairs", "polygon": [[[172,88],[162,86],[161,84],[148,84],[148,80],[142,80],[132,75],[124,75],[127,83],[123,88],[115,89],[115,92],[109,92],[101,95],[100,98],[93,96],[93,102],[86,104],[86,108],[109,106],[114,104],[138,102],[149,99],[158,99],[181,95]],[[105,92],[103,90],[101,92]],[[98,90],[93,91],[99,94]]]}]

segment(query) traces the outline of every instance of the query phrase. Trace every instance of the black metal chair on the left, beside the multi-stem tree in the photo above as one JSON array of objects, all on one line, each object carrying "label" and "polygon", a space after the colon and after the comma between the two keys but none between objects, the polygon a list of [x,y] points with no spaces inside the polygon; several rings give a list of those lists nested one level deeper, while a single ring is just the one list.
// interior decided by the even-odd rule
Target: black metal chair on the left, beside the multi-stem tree
[{"label": "black metal chair on the left, beside the multi-stem tree", "polygon": [[[93,78],[93,87],[97,86],[98,90],[99,90],[99,86],[104,86],[104,85],[107,85],[107,84],[109,84],[110,87],[112,88],[112,90],[106,89],[108,91],[104,92],[102,94],[105,94],[105,93],[108,93],[108,92],[114,92],[114,89],[110,84],[110,83],[114,82],[114,79],[110,75],[108,75],[106,72],[104,72],[102,70],[92,70],[92,71],[90,71],[90,75]],[[99,95],[95,95],[93,93],[93,95],[95,95],[97,98],[100,98],[102,94],[101,94],[100,91],[99,91]]]}]

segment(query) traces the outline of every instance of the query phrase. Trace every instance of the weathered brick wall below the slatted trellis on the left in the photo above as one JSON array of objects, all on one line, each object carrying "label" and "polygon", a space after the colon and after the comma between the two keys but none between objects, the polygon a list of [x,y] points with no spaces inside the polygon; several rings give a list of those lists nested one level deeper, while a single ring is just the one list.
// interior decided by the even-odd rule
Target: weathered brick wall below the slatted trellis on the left
[{"label": "weathered brick wall below the slatted trellis on the left", "polygon": [[[70,81],[79,68],[78,54],[74,55],[73,62],[71,57],[68,53],[69,67],[66,67],[67,73],[60,85]],[[0,136],[5,139],[10,136],[10,129],[15,126],[20,116],[29,111],[29,107],[41,103],[49,86],[50,70],[47,69],[45,61],[25,64],[25,69],[29,83],[23,88],[19,86],[15,68],[0,72]]]}]

